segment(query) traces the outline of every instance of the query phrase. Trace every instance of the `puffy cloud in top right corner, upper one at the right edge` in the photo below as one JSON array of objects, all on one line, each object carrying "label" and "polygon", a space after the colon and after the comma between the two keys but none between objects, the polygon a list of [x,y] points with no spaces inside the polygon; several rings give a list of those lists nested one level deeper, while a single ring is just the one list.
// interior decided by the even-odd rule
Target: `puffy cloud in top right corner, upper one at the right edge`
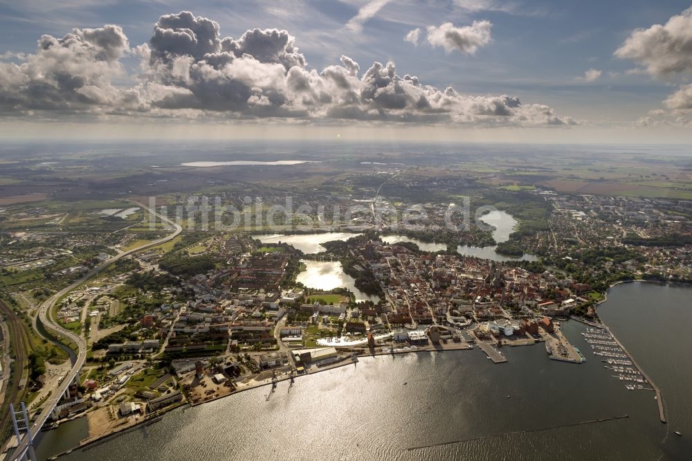
[{"label": "puffy cloud in top right corner, upper one at the right edge", "polygon": [[658,78],[692,73],[692,8],[671,17],[664,25],[635,30],[615,55],[644,66]]}]

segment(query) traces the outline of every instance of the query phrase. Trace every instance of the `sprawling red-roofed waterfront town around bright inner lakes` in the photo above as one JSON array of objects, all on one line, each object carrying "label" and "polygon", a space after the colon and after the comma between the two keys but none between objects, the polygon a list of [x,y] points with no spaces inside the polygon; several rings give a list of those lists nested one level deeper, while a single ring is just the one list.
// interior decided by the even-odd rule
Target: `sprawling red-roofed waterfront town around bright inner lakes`
[{"label": "sprawling red-roofed waterfront town around bright inner lakes", "polygon": [[[533,346],[574,366],[585,357],[566,321],[589,325],[628,388],[655,389],[596,307],[620,282],[692,280],[692,201],[475,189],[477,219],[455,221],[450,201],[475,180],[402,172],[384,190],[296,193],[302,215],[271,223],[264,212],[286,197],[262,188],[214,196],[211,214],[197,192],[3,206],[5,401],[26,402],[42,430],[86,417],[86,445],[235,392],[266,386],[269,399],[279,381],[363,356],[501,364],[505,347]],[[448,199],[406,198],[418,189]],[[215,228],[232,206],[237,227]]]}]

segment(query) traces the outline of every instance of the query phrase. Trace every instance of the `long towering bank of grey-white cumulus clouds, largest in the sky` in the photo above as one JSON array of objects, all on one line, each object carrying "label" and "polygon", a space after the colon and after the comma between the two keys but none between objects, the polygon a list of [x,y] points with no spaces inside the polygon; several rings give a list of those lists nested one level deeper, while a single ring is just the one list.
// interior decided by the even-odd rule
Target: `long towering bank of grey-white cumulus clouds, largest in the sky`
[{"label": "long towering bank of grey-white cumulus clouds, largest in the sky", "polygon": [[[473,42],[472,33],[463,33],[453,49],[473,53],[489,41],[489,27],[474,23],[470,28],[481,35],[487,30],[487,37]],[[120,64],[125,54],[140,57],[136,75],[129,75],[136,84],[116,87],[111,77],[127,77]],[[576,123],[516,96],[437,89],[400,75],[392,62],[374,62],[360,74],[361,66],[347,56],[321,71],[309,69],[286,30],[251,29],[233,39],[223,37],[215,21],[181,12],[162,16],[149,43],[134,48],[118,26],[42,37],[26,62],[0,63],[0,109],[473,126]]]}]

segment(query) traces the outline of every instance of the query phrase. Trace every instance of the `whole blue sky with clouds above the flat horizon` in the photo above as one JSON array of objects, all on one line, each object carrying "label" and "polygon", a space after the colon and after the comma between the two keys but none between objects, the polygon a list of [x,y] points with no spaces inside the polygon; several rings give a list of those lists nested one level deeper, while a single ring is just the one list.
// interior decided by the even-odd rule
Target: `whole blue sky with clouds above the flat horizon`
[{"label": "whole blue sky with clouds above the flat horizon", "polygon": [[5,2],[0,136],[692,143],[692,4]]}]

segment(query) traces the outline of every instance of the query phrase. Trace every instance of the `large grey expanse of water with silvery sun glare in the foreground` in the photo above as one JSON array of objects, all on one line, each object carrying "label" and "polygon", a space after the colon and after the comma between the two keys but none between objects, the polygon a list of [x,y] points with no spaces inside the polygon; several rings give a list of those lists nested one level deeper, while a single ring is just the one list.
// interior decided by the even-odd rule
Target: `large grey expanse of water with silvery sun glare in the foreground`
[{"label": "large grey expanse of water with silvery sun glare in the foreground", "polygon": [[[621,283],[628,282],[630,281],[621,281]],[[629,288],[623,287],[623,291],[618,291],[617,296],[614,293],[610,293],[610,300],[614,302],[614,305],[612,305],[613,311],[617,312],[618,315],[608,316],[607,320],[605,320],[608,325],[612,323],[613,327],[619,327],[622,326],[623,322],[626,326],[630,325],[628,321],[630,304],[632,300],[640,299],[644,294],[643,288],[632,289],[632,285]],[[644,286],[643,284],[639,285]],[[639,309],[635,312],[641,313],[646,311],[647,307],[651,305],[653,296],[659,296],[660,290],[664,289],[658,288],[659,285],[661,284],[655,283],[650,289],[646,289],[648,296],[644,297],[644,302],[640,303]],[[624,296],[625,293],[627,296]],[[689,294],[684,292],[684,296],[689,296]],[[677,305],[680,305],[680,299],[686,298],[676,299],[678,300]],[[684,310],[689,311],[689,309]],[[605,310],[602,312],[605,312]],[[641,317],[641,314],[637,315]],[[646,321],[644,325],[646,325]],[[351,447],[347,437],[338,437],[334,440],[328,437],[324,439],[322,433],[327,434],[330,432],[326,428],[324,430],[320,429],[322,426],[317,424],[315,426],[315,430],[318,431],[316,437],[320,438],[320,440],[325,440],[322,445],[327,447],[336,444],[334,445],[336,446],[334,457],[327,456],[329,459],[342,459],[343,453],[367,452],[378,453],[381,458],[397,458],[412,461],[435,459],[430,458],[433,455],[437,459],[440,457],[459,459],[461,453],[466,453],[467,455],[468,453],[475,453],[478,459],[484,459],[479,457],[495,453],[493,444],[499,440],[495,441],[493,437],[500,435],[500,433],[503,437],[505,437],[505,434],[507,434],[507,437],[511,437],[507,440],[509,445],[523,447],[516,451],[514,456],[516,459],[529,459],[527,458],[529,454],[531,455],[530,459],[534,460],[552,459],[549,458],[547,452],[542,447],[550,447],[549,451],[553,455],[563,453],[569,459],[573,459],[576,456],[575,453],[580,457],[576,459],[592,459],[592,457],[597,455],[614,453],[621,453],[621,455],[625,453],[625,456],[629,457],[628,459],[638,459],[637,455],[643,456],[646,459],[656,459],[662,453],[662,450],[664,453],[677,454],[678,457],[680,453],[684,453],[684,445],[680,445],[680,442],[677,442],[675,437],[668,439],[667,442],[662,442],[664,434],[668,433],[668,431],[672,432],[675,429],[686,433],[691,430],[689,422],[686,422],[684,418],[684,410],[675,407],[680,404],[680,398],[683,398],[684,402],[689,401],[685,394],[684,386],[682,388],[671,388],[671,384],[666,382],[666,377],[661,378],[659,376],[660,370],[652,370],[652,372],[657,373],[655,374],[656,380],[662,380],[659,384],[664,385],[662,390],[666,392],[664,404],[667,405],[665,410],[668,424],[662,427],[659,419],[654,419],[653,416],[656,413],[653,392],[627,392],[624,390],[620,381],[610,377],[612,372],[603,369],[605,364],[601,363],[597,357],[593,357],[588,349],[582,348],[584,340],[579,332],[585,332],[584,327],[579,326],[579,323],[575,321],[574,323],[565,322],[564,329],[570,340],[573,338],[576,341],[575,344],[587,355],[588,363],[585,367],[579,367],[579,371],[576,371],[577,368],[550,364],[551,362],[554,363],[554,361],[546,361],[544,359],[545,352],[535,348],[528,348],[526,351],[522,350],[521,353],[512,354],[510,354],[510,351],[514,350],[514,348],[508,349],[509,363],[505,363],[499,368],[489,363],[490,361],[486,360],[486,357],[483,356],[484,354],[480,353],[459,356],[457,354],[430,354],[429,351],[409,350],[395,352],[397,358],[400,357],[401,359],[392,360],[386,357],[386,355],[391,354],[390,352],[384,354],[376,353],[375,355],[379,356],[377,359],[365,359],[365,357],[371,356],[366,350],[364,356],[361,355],[359,357],[361,363],[354,365],[354,368],[347,366],[353,363],[351,357],[347,356],[345,361],[333,364],[331,368],[339,368],[343,372],[320,374],[321,371],[326,371],[330,368],[316,369],[311,373],[316,376],[306,381],[298,381],[301,383],[300,386],[289,388],[288,384],[284,383],[270,394],[268,389],[263,392],[257,390],[257,388],[271,386],[271,381],[256,383],[257,385],[252,387],[255,392],[237,395],[233,400],[217,402],[216,405],[211,406],[203,406],[200,403],[195,407],[194,411],[191,410],[191,407],[185,406],[184,413],[182,411],[179,413],[174,413],[172,410],[167,411],[168,415],[163,420],[152,424],[152,428],[146,431],[130,431],[129,433],[113,435],[111,437],[124,436],[124,438],[118,438],[113,443],[104,437],[100,444],[91,444],[91,448],[87,449],[87,451],[75,449],[68,459],[104,459],[115,461],[122,459],[121,457],[128,453],[131,456],[135,456],[135,458],[136,455],[134,453],[140,453],[140,455],[147,455],[152,460],[183,460],[185,458],[183,456],[184,452],[180,451],[182,449],[199,449],[203,453],[212,456],[212,459],[219,459],[224,450],[214,448],[214,446],[218,447],[219,443],[224,445],[233,443],[232,441],[246,440],[244,438],[246,435],[252,434],[260,430],[260,428],[266,431],[271,429],[272,440],[275,440],[275,443],[257,447],[251,440],[238,442],[237,448],[234,451],[235,455],[237,457],[243,455],[244,458],[248,458],[263,453],[263,451],[271,453],[273,448],[276,453],[279,453],[280,447],[286,446],[285,440],[292,440],[291,437],[294,435],[290,428],[286,428],[280,422],[284,421],[285,417],[293,419],[309,417],[318,421],[322,417],[333,417],[334,411],[338,411],[337,408],[344,411],[344,417],[348,417],[348,419],[343,421],[347,425],[357,424],[358,427],[362,427],[365,424],[365,429],[367,430],[369,424],[373,428],[386,424],[390,430],[383,431],[383,435],[376,437],[372,443],[365,442],[364,444],[361,442],[360,447]],[[631,343],[632,338],[637,341],[639,337],[637,336],[637,330],[639,329],[641,327],[637,325],[634,329],[635,336],[632,336],[632,327],[625,329],[622,332],[623,341],[626,340],[628,343]],[[686,343],[689,343],[689,341],[686,341]],[[650,349],[650,345],[644,345],[645,351]],[[410,354],[410,352],[428,353]],[[633,347],[630,352],[640,354],[641,347]],[[646,356],[642,361],[637,360],[637,363],[646,365],[648,368],[651,365],[651,363],[647,362]],[[555,368],[556,366],[559,368]],[[542,373],[540,376],[542,377],[541,379],[546,381],[545,386],[547,388],[558,390],[558,393],[547,392],[545,398],[534,395],[535,387],[529,383],[535,381],[531,381],[529,377],[535,377],[536,372]],[[287,376],[282,378],[284,379],[281,381],[289,379]],[[462,381],[459,381],[459,379],[462,379]],[[403,386],[403,382],[408,382],[408,386]],[[460,383],[464,384],[459,386]],[[491,383],[493,385],[489,387]],[[505,383],[507,384],[505,385]],[[523,385],[521,383],[527,384]],[[351,392],[349,392],[349,389],[352,388],[359,389],[360,397],[356,399],[359,403],[355,405],[346,404],[346,402],[353,400]],[[251,387],[248,386],[244,390],[251,390]],[[234,392],[234,395],[240,394],[244,390]],[[388,399],[399,401],[399,399],[406,396],[420,395],[420,392],[424,392],[424,390],[429,392],[428,397],[426,399],[414,399],[408,413],[401,414],[401,411],[405,408],[397,408],[394,411],[386,410],[390,408],[390,404],[387,403]],[[286,392],[288,393],[286,394]],[[570,404],[570,399],[560,397],[565,392],[577,397],[576,401]],[[680,392],[683,392],[683,394],[681,395]],[[266,399],[268,394],[270,398]],[[511,399],[508,400],[506,395],[511,395]],[[343,402],[340,399],[343,399]],[[579,404],[583,399],[592,400],[595,405],[593,408],[598,409],[585,410],[583,404]],[[267,400],[266,404],[265,400]],[[210,401],[214,401],[214,399],[202,403]],[[321,403],[316,404],[315,402]],[[344,404],[346,407],[343,406]],[[535,424],[533,424],[533,428],[537,428],[538,431],[531,433],[531,435],[527,433],[526,437],[524,435],[512,435],[513,431],[516,431],[516,424],[502,424],[495,422],[494,419],[485,424],[475,418],[475,415],[486,415],[486,412],[490,409],[493,412],[507,412],[501,414],[507,415],[510,420],[516,420],[515,417],[527,414],[527,404],[531,408],[536,408],[534,411],[528,411],[530,417],[538,418]],[[674,407],[671,407],[671,405]],[[557,409],[561,413],[556,413],[556,415],[552,416],[550,413],[545,413],[555,406],[558,406]],[[428,410],[432,409],[433,413],[439,415],[445,421],[450,417],[453,418],[450,419],[450,422],[459,424],[459,429],[446,430],[445,427],[447,425],[441,424],[439,417],[421,419],[423,414],[420,412],[426,410],[426,408]],[[318,413],[315,413],[317,410]],[[372,412],[379,414],[379,417],[371,419],[365,417],[363,419],[363,415],[371,414]],[[559,416],[565,414],[571,416]],[[558,426],[572,424],[581,420],[588,421],[611,415],[625,414],[630,415],[629,422],[627,423],[609,424],[597,429],[584,428],[583,430],[569,429],[566,431],[554,429],[554,432],[545,434],[540,431],[540,428],[557,428]],[[217,428],[217,424],[212,423],[215,415],[219,417],[221,415],[235,415],[235,418],[244,417],[249,422],[257,423],[251,424],[251,427],[247,427],[244,424],[230,424],[230,426],[224,426],[224,428]],[[349,417],[348,415],[351,416]],[[275,419],[276,422],[267,426],[267,423],[264,422],[266,418]],[[500,419],[504,418],[500,417]],[[401,431],[409,428],[410,424],[415,424],[415,429],[418,433],[420,433],[419,431],[424,431],[424,433],[432,431],[430,432],[431,434],[436,433],[439,435],[430,437],[422,435],[411,438],[401,435]],[[480,426],[478,426],[479,424]],[[199,440],[194,438],[194,434],[202,430],[210,431],[209,437],[214,433],[215,443],[210,447],[207,447],[207,442],[210,440],[208,436],[200,433]],[[167,440],[166,434],[170,431],[183,432],[175,440]],[[343,436],[346,435],[347,433],[343,434]],[[557,441],[557,439],[562,440],[563,437],[572,436],[579,437],[579,440],[588,439],[590,443],[573,446],[571,443],[565,444],[564,441]],[[159,438],[161,440],[157,441]],[[343,446],[339,445],[339,440],[342,438],[344,438]],[[471,442],[476,439],[476,442]],[[483,442],[484,440],[487,440],[487,442]],[[447,441],[450,443],[444,445],[445,448],[437,448],[438,444]],[[662,443],[664,443],[664,446],[661,445]],[[421,456],[424,456],[424,458],[421,458],[419,455],[404,453],[408,446],[430,446],[429,450],[432,451],[428,451],[427,454],[421,454]],[[529,447],[528,449],[527,446]],[[319,450],[322,451],[324,447],[319,448]],[[63,445],[62,450],[65,448]],[[124,451],[120,451],[121,449]],[[302,453],[318,453],[316,450],[314,448],[305,449]],[[176,453],[180,453],[180,455]],[[322,451],[322,453],[324,452]],[[48,456],[51,454],[48,453]]]}]

